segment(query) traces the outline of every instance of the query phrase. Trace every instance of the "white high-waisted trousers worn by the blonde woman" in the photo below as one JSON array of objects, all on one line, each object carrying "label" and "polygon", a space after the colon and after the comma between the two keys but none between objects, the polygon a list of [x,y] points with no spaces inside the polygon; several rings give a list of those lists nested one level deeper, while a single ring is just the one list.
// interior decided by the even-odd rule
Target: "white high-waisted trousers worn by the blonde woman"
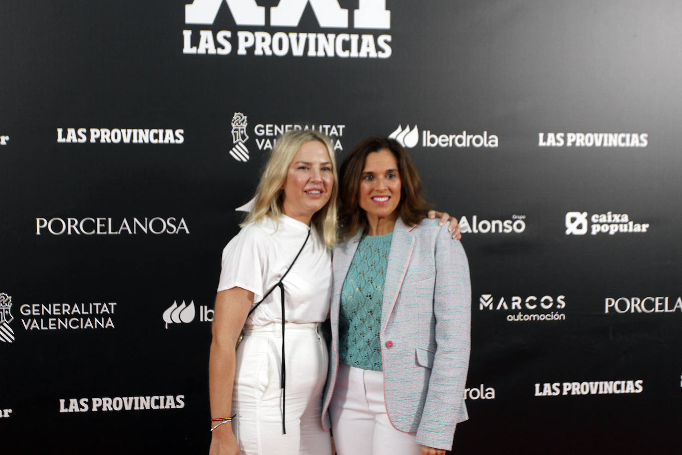
[{"label": "white high-waisted trousers worn by the blonde woman", "polygon": [[331,455],[322,428],[327,345],[319,323],[286,323],[286,435],[280,389],[282,324],[244,327],[237,348],[232,429],[242,455]]}]

